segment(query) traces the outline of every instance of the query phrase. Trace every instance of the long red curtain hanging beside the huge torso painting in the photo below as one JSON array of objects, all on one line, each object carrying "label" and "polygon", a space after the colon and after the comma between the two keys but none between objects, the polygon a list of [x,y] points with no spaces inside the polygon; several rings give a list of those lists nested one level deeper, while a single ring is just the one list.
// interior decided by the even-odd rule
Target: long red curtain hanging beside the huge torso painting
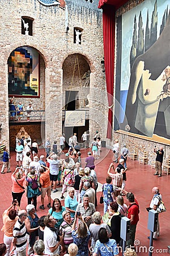
[{"label": "long red curtain hanging beside the huge torso painting", "polygon": [[[101,0],[101,5],[107,0]],[[99,4],[99,6],[101,6]],[[108,104],[113,105],[113,80],[114,80],[114,36],[115,36],[115,9],[112,5],[103,5],[103,42],[104,42],[104,65],[107,83]],[[113,112],[108,112],[107,138],[112,138]]]}]

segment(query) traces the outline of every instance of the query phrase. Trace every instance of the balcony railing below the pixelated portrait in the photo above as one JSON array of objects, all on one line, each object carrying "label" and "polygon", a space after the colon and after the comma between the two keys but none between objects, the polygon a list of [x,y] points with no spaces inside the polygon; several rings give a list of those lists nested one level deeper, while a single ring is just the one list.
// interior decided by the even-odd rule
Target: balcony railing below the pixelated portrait
[{"label": "balcony railing below the pixelated portrait", "polygon": [[[23,115],[21,117],[21,121],[26,121],[27,120],[27,110],[22,111]],[[12,116],[11,114],[14,116]],[[17,114],[17,111],[9,111],[9,122],[18,122],[18,118],[20,115]],[[32,110],[30,115],[29,115],[30,121],[45,121],[45,110]]]}]

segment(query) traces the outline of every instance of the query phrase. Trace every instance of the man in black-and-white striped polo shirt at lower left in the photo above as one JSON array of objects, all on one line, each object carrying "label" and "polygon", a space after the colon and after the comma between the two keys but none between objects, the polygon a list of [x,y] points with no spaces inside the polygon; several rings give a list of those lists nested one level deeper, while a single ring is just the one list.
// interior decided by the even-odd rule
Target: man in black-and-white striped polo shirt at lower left
[{"label": "man in black-and-white striped polo shirt at lower left", "polygon": [[16,221],[13,230],[13,240],[12,243],[15,246],[17,256],[26,255],[27,247],[27,229],[25,228],[25,220],[27,218],[27,212],[25,210],[20,210],[18,212],[18,221]]}]

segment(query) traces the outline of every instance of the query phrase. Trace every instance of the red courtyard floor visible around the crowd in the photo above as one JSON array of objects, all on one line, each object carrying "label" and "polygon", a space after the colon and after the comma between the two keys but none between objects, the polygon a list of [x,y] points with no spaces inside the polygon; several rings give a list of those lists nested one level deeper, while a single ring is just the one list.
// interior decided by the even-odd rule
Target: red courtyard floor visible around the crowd
[{"label": "red courtyard floor visible around the crowd", "polygon": [[[82,156],[86,158],[87,149],[82,150]],[[44,154],[44,150],[40,150],[40,154]],[[15,162],[15,153],[11,154],[11,171],[14,172],[16,162]],[[96,173],[98,177],[98,181],[100,183],[105,182],[105,177],[107,176],[107,170],[109,164],[112,161],[112,151],[108,151],[106,148],[102,148],[101,156],[103,158],[96,161]],[[84,163],[84,159],[82,161]],[[84,165],[83,165],[84,166]],[[150,200],[152,198],[152,187],[158,186],[160,189],[160,193],[162,194],[163,201],[165,203],[165,207],[167,208],[167,212],[159,214],[159,221],[160,221],[160,237],[158,241],[154,241],[154,255],[167,255],[168,251],[167,246],[170,245],[170,222],[169,222],[169,189],[168,189],[168,180],[170,176],[164,174],[162,177],[158,178],[158,176],[153,176],[155,170],[151,169],[150,166],[139,164],[138,161],[133,162],[132,160],[128,159],[128,171],[127,171],[127,181],[126,181],[126,191],[131,191],[134,193],[136,199],[139,202],[140,206],[140,214],[139,218],[140,221],[137,225],[137,233],[136,233],[136,244],[135,246],[138,255],[148,255],[148,247],[149,247],[149,240],[147,236],[150,235],[150,231],[147,229],[147,218],[148,213],[146,211],[146,207],[149,206]],[[1,179],[1,187],[0,187],[0,214],[5,209],[7,209],[12,201],[11,196],[11,174],[0,174]],[[99,199],[100,192],[97,193],[97,197]],[[40,196],[37,200],[38,206],[40,205]],[[125,199],[125,203],[126,203]],[[45,205],[47,204],[47,200],[45,199]],[[27,205],[27,199],[25,194],[22,198],[21,208],[25,209]],[[40,217],[47,213],[48,209],[46,208],[44,211],[37,208],[37,214]],[[103,214],[103,205],[98,205],[96,208]],[[2,228],[2,218],[0,220],[0,229]],[[0,242],[3,242],[3,232],[0,231]],[[121,255],[121,253],[120,253]]]}]

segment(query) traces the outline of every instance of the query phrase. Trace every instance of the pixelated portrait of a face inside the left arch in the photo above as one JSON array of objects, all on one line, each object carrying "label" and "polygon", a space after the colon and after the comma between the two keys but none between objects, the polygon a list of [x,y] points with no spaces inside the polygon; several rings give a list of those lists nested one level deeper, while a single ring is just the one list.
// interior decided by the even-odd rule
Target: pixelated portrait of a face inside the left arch
[{"label": "pixelated portrait of a face inside the left arch", "polygon": [[39,53],[31,47],[19,47],[8,58],[8,94],[39,97]]}]

